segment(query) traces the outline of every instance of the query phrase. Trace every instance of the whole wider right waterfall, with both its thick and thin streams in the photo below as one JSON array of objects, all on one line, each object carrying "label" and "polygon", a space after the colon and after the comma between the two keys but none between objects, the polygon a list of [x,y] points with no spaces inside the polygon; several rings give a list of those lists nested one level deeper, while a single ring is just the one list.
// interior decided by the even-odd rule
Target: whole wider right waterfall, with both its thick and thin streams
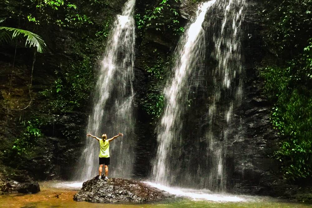
[{"label": "whole wider right waterfall, with both its thick and thin streams", "polygon": [[[201,3],[175,49],[174,75],[164,89],[166,107],[156,128],[152,178],[157,183],[226,189],[227,143],[239,137],[232,118],[242,99],[245,6],[245,0]],[[200,97],[193,108],[192,94]],[[193,119],[200,122],[193,125]]]}]

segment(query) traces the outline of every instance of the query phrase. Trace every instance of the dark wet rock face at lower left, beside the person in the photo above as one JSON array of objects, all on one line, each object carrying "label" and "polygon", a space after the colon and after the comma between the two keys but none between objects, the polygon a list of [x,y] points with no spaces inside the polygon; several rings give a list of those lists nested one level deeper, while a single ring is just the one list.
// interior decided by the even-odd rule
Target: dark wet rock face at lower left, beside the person
[{"label": "dark wet rock face at lower left, beside the person", "polygon": [[84,145],[85,118],[87,115],[79,112],[54,115],[53,121],[42,127],[45,136],[32,148],[32,157],[5,158],[5,163],[39,180],[70,179],[69,173],[76,171],[76,161]]}]

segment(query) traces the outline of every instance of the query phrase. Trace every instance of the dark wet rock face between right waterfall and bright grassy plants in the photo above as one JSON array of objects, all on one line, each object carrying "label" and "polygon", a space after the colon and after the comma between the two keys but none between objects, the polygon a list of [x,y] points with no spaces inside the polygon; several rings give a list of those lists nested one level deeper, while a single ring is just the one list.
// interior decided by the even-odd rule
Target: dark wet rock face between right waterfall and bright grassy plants
[{"label": "dark wet rock face between right waterfall and bright grassy plants", "polygon": [[[286,181],[281,180],[279,164],[270,157],[278,146],[278,135],[272,129],[272,104],[263,93],[263,81],[257,70],[266,65],[264,59],[271,56],[265,52],[263,20],[256,12],[262,10],[263,2],[247,1],[242,39],[245,58],[244,98],[235,112],[235,123],[240,123],[240,127],[234,133],[241,136],[230,139],[227,145],[227,188],[236,193],[277,196],[271,190],[277,186],[284,186],[286,190],[287,185]],[[285,194],[280,191],[278,195]]]}]

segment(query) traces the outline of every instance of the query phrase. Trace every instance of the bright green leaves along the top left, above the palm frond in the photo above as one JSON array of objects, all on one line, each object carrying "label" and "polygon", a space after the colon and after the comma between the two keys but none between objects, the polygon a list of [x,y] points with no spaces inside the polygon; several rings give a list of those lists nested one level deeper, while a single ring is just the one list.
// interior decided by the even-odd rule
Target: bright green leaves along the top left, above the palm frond
[{"label": "bright green leaves along the top left, above the palm frond", "polygon": [[60,27],[93,24],[89,14],[85,11],[85,4],[96,4],[96,0],[2,0],[2,16],[28,22],[30,25],[46,26],[55,24]]}]

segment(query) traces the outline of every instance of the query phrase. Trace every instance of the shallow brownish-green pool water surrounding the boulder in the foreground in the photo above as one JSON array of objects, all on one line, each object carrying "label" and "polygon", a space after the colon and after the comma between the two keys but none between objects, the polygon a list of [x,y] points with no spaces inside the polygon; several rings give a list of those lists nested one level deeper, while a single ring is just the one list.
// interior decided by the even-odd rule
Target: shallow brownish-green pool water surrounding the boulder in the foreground
[{"label": "shallow brownish-green pool water surrounding the boulder in the foreground", "polygon": [[[62,185],[63,184],[63,185]],[[24,208],[41,208],[41,207],[108,207],[108,208],[175,208],[175,207],[214,207],[214,208],[227,208],[227,207],[254,207],[254,208],[305,208],[311,207],[309,204],[294,203],[285,200],[278,200],[271,197],[255,197],[255,196],[236,196],[237,199],[242,201],[224,202],[224,201],[209,201],[200,198],[195,199],[190,196],[187,197],[173,197],[166,201],[152,202],[152,203],[136,203],[136,204],[97,204],[90,202],[76,202],[73,200],[74,194],[79,188],[74,185],[64,187],[65,182],[61,181],[46,181],[40,183],[41,191],[37,194],[7,194],[0,196],[0,207],[24,207]],[[78,190],[77,190],[78,189]],[[168,189],[168,187],[167,187]],[[173,188],[173,190],[179,190]],[[180,189],[182,192],[189,192],[196,190]],[[207,190],[208,191],[208,190]],[[198,192],[198,190],[197,190]],[[208,191],[209,192],[209,191]],[[198,192],[198,194],[201,194]],[[207,193],[205,193],[207,194]],[[209,193],[212,196],[216,194]],[[223,196],[223,195],[222,195]],[[220,196],[219,196],[220,197]],[[234,197],[234,196],[231,196]],[[213,198],[211,198],[214,200]]]}]

